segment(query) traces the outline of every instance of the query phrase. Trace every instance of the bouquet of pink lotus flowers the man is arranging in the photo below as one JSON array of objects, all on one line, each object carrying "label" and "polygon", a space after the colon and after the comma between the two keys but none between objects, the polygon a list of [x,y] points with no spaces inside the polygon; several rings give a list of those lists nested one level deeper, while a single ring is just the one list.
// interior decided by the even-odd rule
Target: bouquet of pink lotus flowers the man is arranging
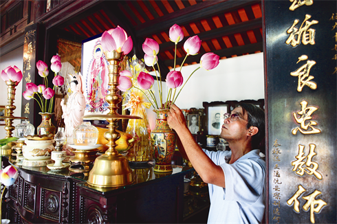
[{"label": "bouquet of pink lotus flowers the man is arranging", "polygon": [[[182,27],[180,27],[177,24],[173,25],[169,30],[169,38],[173,43],[175,43],[175,60],[176,60],[177,43],[182,41],[184,38],[184,32],[182,31]],[[166,102],[163,101],[162,76],[160,74],[160,67],[159,65],[157,65],[158,73],[154,67],[155,64],[157,64],[158,60],[157,54],[159,53],[159,44],[151,38],[146,38],[146,40],[142,45],[142,49],[145,53],[144,54],[145,64],[147,66],[153,67],[153,70],[155,71],[160,101],[155,98],[155,94],[151,89],[153,83],[155,82],[154,78],[144,71],[140,72],[140,74],[138,74],[136,78],[138,85],[134,85],[135,82],[133,80],[135,79],[135,77],[130,76],[130,74],[128,73],[121,73],[118,89],[122,91],[127,91],[131,88],[139,89],[144,93],[144,96],[148,98],[153,108],[168,109],[168,102],[174,103],[175,100],[177,100],[177,97],[179,96],[180,92],[186,85],[186,82],[188,82],[188,80],[195,73],[195,71],[197,71],[201,67],[203,67],[208,71],[210,69],[214,69],[215,67],[217,67],[217,65],[219,65],[219,56],[217,56],[217,54],[214,54],[212,52],[206,53],[202,56],[200,60],[200,66],[197,69],[195,69],[195,71],[193,71],[192,74],[188,77],[188,79],[184,82],[184,78],[182,76],[182,66],[184,65],[184,61],[189,55],[193,56],[198,54],[201,45],[202,41],[200,41],[199,36],[197,35],[191,36],[185,41],[184,50],[186,52],[186,56],[182,62],[182,65],[180,65],[180,69],[176,70],[176,67],[174,65],[173,71],[168,72],[168,74],[166,75],[166,85],[168,87]],[[177,88],[179,87],[181,88],[177,92]],[[149,96],[146,95],[144,91],[147,91],[147,93],[149,93]]]}]

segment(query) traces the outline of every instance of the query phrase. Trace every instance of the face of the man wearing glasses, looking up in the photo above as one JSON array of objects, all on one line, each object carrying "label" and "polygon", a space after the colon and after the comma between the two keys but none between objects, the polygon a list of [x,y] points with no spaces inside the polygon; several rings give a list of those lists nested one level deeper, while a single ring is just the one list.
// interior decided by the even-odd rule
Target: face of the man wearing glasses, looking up
[{"label": "face of the man wearing glasses, looking up", "polygon": [[242,138],[247,137],[248,129],[247,129],[247,123],[248,123],[248,114],[244,113],[242,111],[242,107],[237,107],[234,110],[232,110],[232,113],[236,113],[239,115],[237,120],[232,121],[230,120],[230,117],[224,120],[224,124],[222,124],[221,128],[221,134],[220,136],[223,139],[226,139],[226,141],[238,141]]}]

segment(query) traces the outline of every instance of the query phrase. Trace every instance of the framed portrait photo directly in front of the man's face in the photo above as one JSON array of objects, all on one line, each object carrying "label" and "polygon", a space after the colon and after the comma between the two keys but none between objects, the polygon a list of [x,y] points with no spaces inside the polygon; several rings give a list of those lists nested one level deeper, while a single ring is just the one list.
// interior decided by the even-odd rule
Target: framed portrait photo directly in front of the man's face
[{"label": "framed portrait photo directly in front of the man's face", "polygon": [[206,112],[207,135],[220,135],[224,123],[224,113],[229,113],[230,105],[226,102],[203,102]]}]

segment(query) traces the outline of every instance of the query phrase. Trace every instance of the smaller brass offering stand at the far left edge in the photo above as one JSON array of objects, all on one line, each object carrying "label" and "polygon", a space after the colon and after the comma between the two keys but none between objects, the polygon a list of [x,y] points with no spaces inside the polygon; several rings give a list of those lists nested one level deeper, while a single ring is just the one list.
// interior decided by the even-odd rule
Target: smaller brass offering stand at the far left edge
[{"label": "smaller brass offering stand at the far left edge", "polygon": [[[6,81],[7,88],[7,99],[8,105],[6,106],[6,114],[5,116],[0,116],[0,118],[6,120],[5,130],[7,131],[6,139],[12,137],[12,133],[14,131],[13,120],[20,119],[26,120],[28,117],[14,117],[14,109],[17,107],[14,106],[14,96],[15,96],[15,88],[19,85],[19,82],[13,82],[12,80]],[[14,142],[10,142],[6,144],[6,146],[1,147],[1,155],[10,156],[12,154],[12,147],[14,146]]]}]

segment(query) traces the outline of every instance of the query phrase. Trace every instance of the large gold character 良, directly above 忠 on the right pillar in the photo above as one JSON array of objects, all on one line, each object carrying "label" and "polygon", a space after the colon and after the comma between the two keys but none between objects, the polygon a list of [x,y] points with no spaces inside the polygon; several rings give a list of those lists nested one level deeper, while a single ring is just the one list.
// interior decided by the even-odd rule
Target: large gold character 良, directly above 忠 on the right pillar
[{"label": "large gold character \u826f, directly above \u5fe0 on the right pillar", "polygon": [[[307,60],[307,56],[305,54],[303,54],[301,57],[298,58],[297,63],[299,63],[301,60]],[[310,81],[310,80],[314,79],[315,77],[309,76],[310,69],[312,69],[312,66],[314,66],[315,64],[316,64],[316,61],[307,60],[306,64],[299,67],[296,71],[290,72],[290,75],[298,77],[298,85],[297,85],[297,91],[298,92],[301,92],[305,85],[307,85],[310,89],[316,89],[317,88],[316,82]],[[305,78],[306,78],[306,80],[305,80]]]}]

